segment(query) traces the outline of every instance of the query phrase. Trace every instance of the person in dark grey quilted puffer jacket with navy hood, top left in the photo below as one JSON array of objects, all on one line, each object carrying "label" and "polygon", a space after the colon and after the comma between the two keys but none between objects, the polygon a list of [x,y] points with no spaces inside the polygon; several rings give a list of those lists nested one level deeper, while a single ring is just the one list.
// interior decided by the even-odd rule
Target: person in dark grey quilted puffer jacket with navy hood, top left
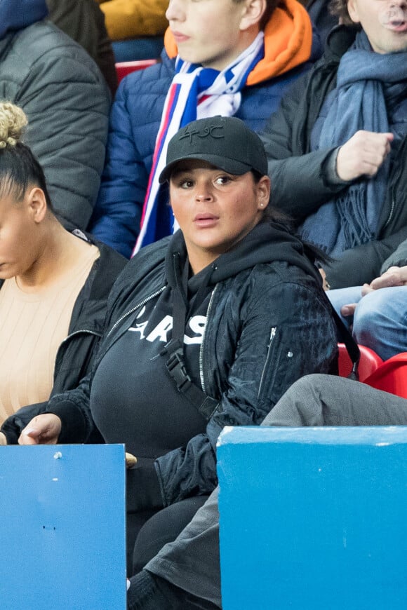
[{"label": "person in dark grey quilted puffer jacket with navy hood, top left", "polygon": [[110,95],[86,51],[49,20],[46,0],[0,2],[0,98],[27,114],[26,142],[65,227],[85,229],[105,159]]}]

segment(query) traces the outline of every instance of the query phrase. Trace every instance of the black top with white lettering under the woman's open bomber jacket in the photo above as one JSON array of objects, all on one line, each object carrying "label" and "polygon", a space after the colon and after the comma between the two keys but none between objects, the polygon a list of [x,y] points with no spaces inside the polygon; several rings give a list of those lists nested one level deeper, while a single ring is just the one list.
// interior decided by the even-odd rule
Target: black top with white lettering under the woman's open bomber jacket
[{"label": "black top with white lettering under the woman's open bomber jacket", "polygon": [[[184,360],[200,386],[199,349],[209,294],[187,319]],[[105,354],[91,390],[93,419],[107,442],[125,442],[138,457],[156,458],[204,433],[206,421],[175,386],[161,354],[172,338],[171,291],[148,301]]]}]

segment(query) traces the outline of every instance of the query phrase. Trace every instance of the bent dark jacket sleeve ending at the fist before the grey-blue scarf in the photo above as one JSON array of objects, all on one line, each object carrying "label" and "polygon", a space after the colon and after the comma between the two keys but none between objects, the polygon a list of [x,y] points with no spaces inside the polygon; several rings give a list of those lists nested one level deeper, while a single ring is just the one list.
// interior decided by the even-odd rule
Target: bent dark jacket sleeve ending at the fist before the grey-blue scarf
[{"label": "bent dark jacket sleeve ending at the fist before the grey-blue scarf", "polygon": [[308,150],[305,126],[297,120],[305,112],[305,79],[307,75],[295,82],[260,134],[272,181],[270,201],[298,222],[345,188],[329,183],[324,175],[324,165],[334,149]]}]

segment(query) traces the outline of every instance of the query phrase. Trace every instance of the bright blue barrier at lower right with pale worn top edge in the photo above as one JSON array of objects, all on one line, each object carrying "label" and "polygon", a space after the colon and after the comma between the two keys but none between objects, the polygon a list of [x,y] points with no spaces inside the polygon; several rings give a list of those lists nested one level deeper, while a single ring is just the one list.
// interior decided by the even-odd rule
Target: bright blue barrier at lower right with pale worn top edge
[{"label": "bright blue barrier at lower right with pale worn top edge", "polygon": [[225,428],[223,610],[406,610],[407,427]]}]

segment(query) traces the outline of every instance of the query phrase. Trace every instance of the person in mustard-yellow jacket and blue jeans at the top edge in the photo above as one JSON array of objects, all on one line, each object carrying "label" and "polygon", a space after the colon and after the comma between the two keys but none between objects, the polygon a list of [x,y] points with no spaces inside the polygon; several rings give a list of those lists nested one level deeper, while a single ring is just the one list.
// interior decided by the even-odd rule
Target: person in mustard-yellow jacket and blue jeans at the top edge
[{"label": "person in mustard-yellow jacket and blue jeans at the top edge", "polygon": [[105,13],[116,62],[159,57],[168,0],[95,0]]}]

